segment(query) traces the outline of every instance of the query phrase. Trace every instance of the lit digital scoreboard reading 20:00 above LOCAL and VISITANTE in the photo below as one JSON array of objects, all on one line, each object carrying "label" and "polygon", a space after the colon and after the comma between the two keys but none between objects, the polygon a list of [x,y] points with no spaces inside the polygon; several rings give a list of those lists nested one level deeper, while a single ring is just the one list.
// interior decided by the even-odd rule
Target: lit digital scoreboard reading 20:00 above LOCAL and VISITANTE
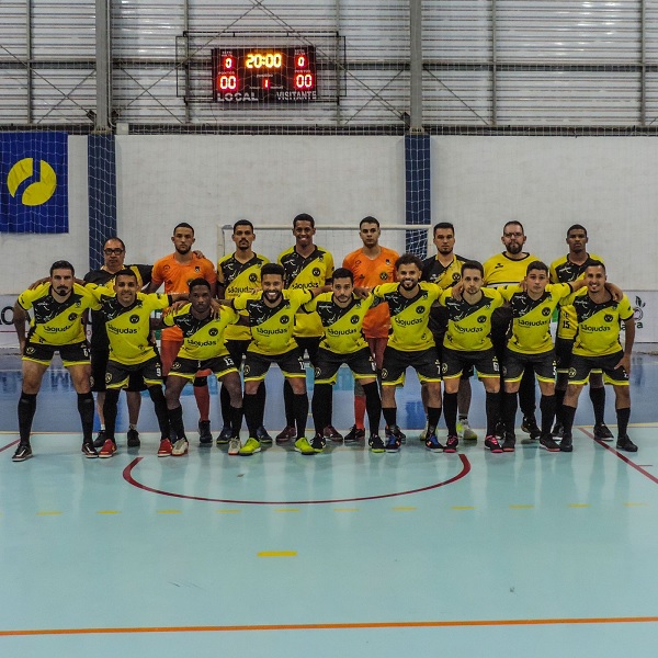
[{"label": "lit digital scoreboard reading 20:00 above LOCAL and VISITANTE", "polygon": [[315,46],[214,48],[213,92],[220,103],[317,101]]}]

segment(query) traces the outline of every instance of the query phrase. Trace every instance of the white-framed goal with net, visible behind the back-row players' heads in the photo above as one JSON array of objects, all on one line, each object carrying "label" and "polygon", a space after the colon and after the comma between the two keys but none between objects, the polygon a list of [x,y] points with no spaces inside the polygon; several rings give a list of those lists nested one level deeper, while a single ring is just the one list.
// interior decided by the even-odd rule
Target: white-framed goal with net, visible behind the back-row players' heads
[{"label": "white-framed goal with net, visible behind the back-row players' heads", "polygon": [[[272,262],[276,262],[279,254],[295,243],[292,224],[257,226],[254,232],[253,250]],[[217,234],[217,253],[219,258],[232,253],[235,251],[235,243],[231,239],[232,225],[219,226]],[[431,245],[431,236],[432,227],[430,225],[382,225],[379,245],[394,249],[400,256],[410,252],[419,258],[426,258],[428,246]],[[337,268],[342,265],[348,253],[363,246],[359,237],[359,229],[345,225],[316,226],[314,242],[331,253]]]}]

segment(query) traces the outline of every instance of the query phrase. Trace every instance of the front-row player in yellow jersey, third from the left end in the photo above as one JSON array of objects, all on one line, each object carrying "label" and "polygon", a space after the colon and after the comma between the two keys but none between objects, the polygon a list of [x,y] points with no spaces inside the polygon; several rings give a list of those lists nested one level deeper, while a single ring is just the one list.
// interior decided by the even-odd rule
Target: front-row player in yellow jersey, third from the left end
[{"label": "front-row player in yellow jersey, third from the left end", "polygon": [[225,336],[226,330],[240,318],[225,306],[216,317],[213,316],[211,284],[205,279],[192,280],[189,287],[190,304],[162,317],[164,327],[175,325],[183,332],[183,344],[171,364],[164,393],[169,422],[177,436],[171,454],[174,457],[188,454],[181,393],[185,384],[194,381],[198,371],[209,370],[230,396],[228,454],[237,455],[241,447],[242,387],[237,365],[225,344]]}]

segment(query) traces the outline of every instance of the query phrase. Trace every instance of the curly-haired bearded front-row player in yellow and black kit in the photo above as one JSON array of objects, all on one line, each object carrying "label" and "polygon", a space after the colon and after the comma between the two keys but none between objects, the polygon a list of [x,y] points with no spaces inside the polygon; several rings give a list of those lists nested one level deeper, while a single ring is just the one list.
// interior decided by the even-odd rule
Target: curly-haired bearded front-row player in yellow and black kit
[{"label": "curly-haired bearded front-row player in yellow and black kit", "polygon": [[436,424],[441,418],[441,365],[432,332],[428,327],[430,308],[443,288],[420,281],[422,261],[405,253],[395,263],[399,283],[378,285],[373,295],[377,303],[388,304],[390,338],[384,351],[382,367],[382,411],[388,426],[386,452],[400,449],[395,389],[405,382],[405,371],[412,366],[428,390],[428,433],[426,447],[441,452]]}]

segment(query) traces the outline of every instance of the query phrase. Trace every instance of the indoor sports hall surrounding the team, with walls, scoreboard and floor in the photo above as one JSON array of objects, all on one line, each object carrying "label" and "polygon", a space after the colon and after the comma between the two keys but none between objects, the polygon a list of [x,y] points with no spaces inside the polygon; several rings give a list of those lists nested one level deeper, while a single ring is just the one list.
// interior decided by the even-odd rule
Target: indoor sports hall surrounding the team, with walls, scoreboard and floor
[{"label": "indoor sports hall surrounding the team, with walls, scoreboard and floor", "polygon": [[[0,24],[1,656],[651,655],[656,3],[3,0]],[[25,387],[14,304],[55,261],[82,277],[118,236],[125,263],[150,272],[185,222],[216,266],[239,219],[276,261],[300,213],[336,268],[363,246],[367,216],[382,246],[421,259],[451,223],[454,253],[480,262],[507,248],[508,222],[548,265],[570,253],[569,227],[586,227],[633,311],[638,451],[617,449],[611,386],[612,440],[595,435],[586,389],[571,453],[542,450],[521,411],[514,452],[486,450],[473,377],[477,441],[431,452],[411,368],[398,452],[328,441],[313,455],[276,442],[229,455],[211,377],[209,445],[188,386],[188,454],[158,457],[143,393],[140,445],[127,446],[122,394],[117,452],[84,458],[57,355],[35,398],[34,455],[12,460]],[[265,382],[275,435],[280,368]],[[306,382],[311,396],[309,364]],[[353,423],[342,367],[332,424]]]}]

